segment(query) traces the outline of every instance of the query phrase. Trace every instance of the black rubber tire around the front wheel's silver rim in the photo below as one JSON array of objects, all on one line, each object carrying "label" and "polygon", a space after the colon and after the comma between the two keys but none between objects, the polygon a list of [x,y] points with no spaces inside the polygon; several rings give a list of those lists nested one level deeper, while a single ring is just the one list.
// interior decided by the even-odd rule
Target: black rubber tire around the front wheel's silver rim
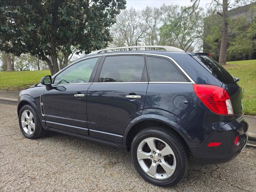
[{"label": "black rubber tire around the front wheel's silver rim", "polygon": [[[29,110],[30,112],[32,112],[32,115],[34,116],[34,123],[35,123],[35,129],[33,131],[32,134],[27,134],[24,129],[22,128],[22,123],[21,123],[21,118],[22,118],[22,113],[25,110]],[[36,139],[39,138],[41,136],[43,136],[46,132],[46,130],[42,127],[41,125],[41,121],[38,118],[38,114],[36,113],[36,111],[30,106],[30,105],[24,105],[21,109],[20,109],[20,113],[19,113],[19,125],[20,125],[20,130],[22,132],[22,134],[29,139]]]}]

